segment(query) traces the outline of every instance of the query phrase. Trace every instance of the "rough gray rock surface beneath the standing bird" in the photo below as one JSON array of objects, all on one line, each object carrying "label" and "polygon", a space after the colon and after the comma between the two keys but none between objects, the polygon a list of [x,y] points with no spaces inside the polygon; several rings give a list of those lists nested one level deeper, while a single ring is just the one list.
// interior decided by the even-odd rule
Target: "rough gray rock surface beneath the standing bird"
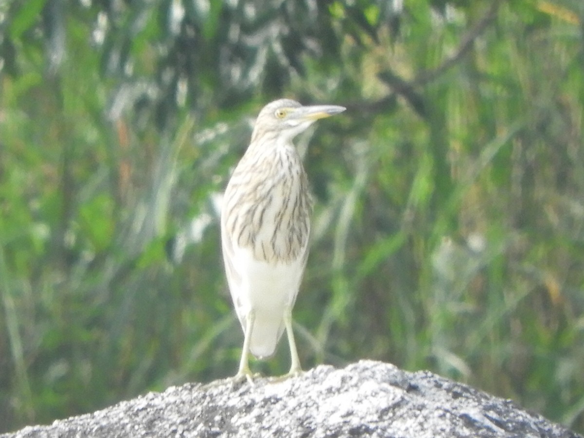
[{"label": "rough gray rock surface beneath the standing bird", "polygon": [[188,383],[29,426],[36,437],[579,437],[514,402],[428,371],[363,360],[283,381]]}]

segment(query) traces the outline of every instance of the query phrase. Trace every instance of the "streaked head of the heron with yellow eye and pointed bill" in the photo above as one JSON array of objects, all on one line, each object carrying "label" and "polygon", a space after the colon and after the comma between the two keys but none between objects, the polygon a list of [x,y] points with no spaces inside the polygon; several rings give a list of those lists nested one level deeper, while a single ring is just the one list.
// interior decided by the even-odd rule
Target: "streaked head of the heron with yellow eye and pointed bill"
[{"label": "streaked head of the heron with yellow eye and pointed bill", "polygon": [[291,99],[274,100],[260,111],[252,140],[263,134],[276,134],[284,140],[292,140],[318,119],[342,113],[345,109],[337,105],[303,106]]}]

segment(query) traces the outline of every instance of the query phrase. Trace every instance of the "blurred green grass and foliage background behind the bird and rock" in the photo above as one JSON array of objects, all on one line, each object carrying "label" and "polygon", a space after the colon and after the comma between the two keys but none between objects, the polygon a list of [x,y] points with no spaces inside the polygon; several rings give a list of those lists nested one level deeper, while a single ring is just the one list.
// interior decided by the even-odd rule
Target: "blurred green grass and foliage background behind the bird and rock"
[{"label": "blurred green grass and foliage background behind the bird and rock", "polygon": [[235,374],[217,206],[282,96],[347,107],[296,141],[304,368],[584,432],[580,0],[0,1],[0,432]]}]

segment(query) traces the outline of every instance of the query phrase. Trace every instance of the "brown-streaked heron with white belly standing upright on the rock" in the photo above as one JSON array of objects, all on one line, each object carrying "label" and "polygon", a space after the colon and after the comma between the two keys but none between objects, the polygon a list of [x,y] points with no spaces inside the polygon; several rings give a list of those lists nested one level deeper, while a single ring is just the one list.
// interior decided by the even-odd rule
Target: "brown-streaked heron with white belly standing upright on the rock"
[{"label": "brown-streaked heron with white belly standing upright on the rock", "polygon": [[292,309],[308,258],[312,201],[308,176],[292,140],[314,121],[345,111],[279,99],[260,110],[251,142],[235,167],[221,208],[225,276],[244,332],[236,380],[252,383],[249,354],[268,359],[284,329],[290,371],[302,372]]}]

